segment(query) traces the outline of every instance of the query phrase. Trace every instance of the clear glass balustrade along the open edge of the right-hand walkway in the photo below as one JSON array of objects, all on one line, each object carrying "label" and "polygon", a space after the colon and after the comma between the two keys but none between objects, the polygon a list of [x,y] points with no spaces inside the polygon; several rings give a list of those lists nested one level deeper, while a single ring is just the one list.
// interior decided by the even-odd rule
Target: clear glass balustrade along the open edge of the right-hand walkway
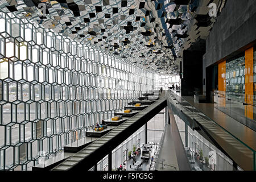
[{"label": "clear glass balustrade along the open edge of the right-hand walkway", "polygon": [[192,121],[196,121],[200,128],[195,130],[203,130],[210,138],[215,140],[221,148],[240,166],[245,170],[256,171],[256,151],[247,146],[244,142],[224,129],[217,122],[208,118],[200,110],[189,104],[184,98],[178,96],[171,90],[166,95],[168,102],[176,108],[176,114],[184,114]]}]

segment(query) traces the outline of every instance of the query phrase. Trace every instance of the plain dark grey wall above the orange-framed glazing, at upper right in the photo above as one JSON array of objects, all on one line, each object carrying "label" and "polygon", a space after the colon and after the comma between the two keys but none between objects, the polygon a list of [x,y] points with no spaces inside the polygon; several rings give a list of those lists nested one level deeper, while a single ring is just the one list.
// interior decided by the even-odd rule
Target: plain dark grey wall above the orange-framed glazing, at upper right
[{"label": "plain dark grey wall above the orange-framed glazing, at upper right", "polygon": [[203,77],[205,68],[227,56],[232,57],[239,49],[244,51],[241,48],[255,40],[256,1],[228,0],[207,38]]}]

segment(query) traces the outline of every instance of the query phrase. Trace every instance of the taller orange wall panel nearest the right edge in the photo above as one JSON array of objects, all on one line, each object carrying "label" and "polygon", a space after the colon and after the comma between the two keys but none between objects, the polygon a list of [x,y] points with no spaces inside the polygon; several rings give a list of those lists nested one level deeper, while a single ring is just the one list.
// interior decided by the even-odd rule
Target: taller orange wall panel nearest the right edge
[{"label": "taller orange wall panel nearest the right edge", "polygon": [[[245,102],[253,104],[253,47],[245,51]],[[253,119],[253,106],[245,106],[245,115]]]}]

